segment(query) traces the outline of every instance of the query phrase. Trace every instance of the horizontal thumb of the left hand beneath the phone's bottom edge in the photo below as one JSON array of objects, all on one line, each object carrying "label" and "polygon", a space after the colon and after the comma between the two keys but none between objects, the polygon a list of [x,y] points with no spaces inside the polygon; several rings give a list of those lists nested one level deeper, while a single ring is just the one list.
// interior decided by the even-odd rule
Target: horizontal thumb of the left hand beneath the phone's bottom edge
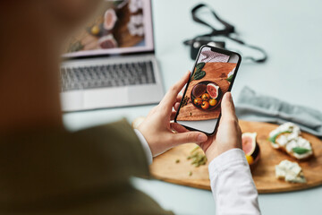
[{"label": "horizontal thumb of the left hand beneath the phone's bottom edge", "polygon": [[186,132],[186,133],[174,133],[174,142],[176,144],[183,143],[200,143],[206,142],[208,140],[208,136],[205,133],[200,132]]}]

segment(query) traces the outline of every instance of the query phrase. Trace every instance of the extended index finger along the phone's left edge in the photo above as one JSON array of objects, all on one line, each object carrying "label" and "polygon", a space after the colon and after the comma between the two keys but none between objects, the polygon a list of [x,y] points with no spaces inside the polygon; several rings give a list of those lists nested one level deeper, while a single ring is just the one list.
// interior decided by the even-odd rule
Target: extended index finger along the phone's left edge
[{"label": "extended index finger along the phone's left edge", "polygon": [[182,90],[184,84],[186,84],[190,77],[190,72],[183,75],[182,79],[175,83],[165,94],[164,99],[161,100],[160,105],[167,110],[169,107],[173,107],[176,97],[180,90]]}]

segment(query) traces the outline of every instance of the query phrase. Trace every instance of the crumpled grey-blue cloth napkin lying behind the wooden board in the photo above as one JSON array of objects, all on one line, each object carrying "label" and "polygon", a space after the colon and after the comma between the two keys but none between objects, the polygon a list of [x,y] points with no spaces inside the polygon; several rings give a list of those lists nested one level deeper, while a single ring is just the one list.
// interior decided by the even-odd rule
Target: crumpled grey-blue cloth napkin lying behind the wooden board
[{"label": "crumpled grey-blue cloth napkin lying behind the wooden board", "polygon": [[322,138],[322,113],[318,110],[295,106],[279,99],[260,95],[244,87],[236,102],[236,115],[247,121],[275,124],[292,122],[301,130]]}]

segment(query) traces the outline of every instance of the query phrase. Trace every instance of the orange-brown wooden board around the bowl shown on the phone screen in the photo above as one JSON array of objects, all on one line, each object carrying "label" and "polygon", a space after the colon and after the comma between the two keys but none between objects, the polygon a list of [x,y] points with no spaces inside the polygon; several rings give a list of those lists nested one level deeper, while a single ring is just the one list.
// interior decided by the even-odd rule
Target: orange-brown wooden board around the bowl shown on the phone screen
[{"label": "orange-brown wooden board around the bowl shown on the phone screen", "polygon": [[[191,103],[191,90],[199,82],[211,81],[216,82],[216,84],[222,90],[222,95],[228,90],[230,82],[226,81],[228,73],[230,73],[236,64],[233,63],[206,63],[202,68],[206,72],[205,77],[200,80],[193,80],[189,84],[189,87],[186,92],[186,96],[190,98],[189,103],[180,108],[180,113],[177,116],[177,120],[207,120],[217,118],[220,112],[220,104],[214,110],[202,110],[197,107],[194,107]],[[216,73],[214,73],[216,71]],[[193,102],[193,101],[192,101]],[[219,100],[220,102],[220,100]]]}]

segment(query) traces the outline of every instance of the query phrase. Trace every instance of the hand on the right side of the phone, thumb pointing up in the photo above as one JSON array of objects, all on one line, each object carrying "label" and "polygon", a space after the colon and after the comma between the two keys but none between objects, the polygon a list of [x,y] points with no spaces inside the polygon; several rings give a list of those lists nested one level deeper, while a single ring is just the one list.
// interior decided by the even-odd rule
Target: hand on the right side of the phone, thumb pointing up
[{"label": "hand on the right side of the phone, thumb pointing up", "polygon": [[[174,104],[177,110],[179,103]],[[234,148],[242,149],[242,131],[238,125],[238,118],[235,115],[232,94],[226,92],[221,103],[222,116],[218,125],[217,133],[209,136],[207,142],[199,143],[209,161],[218,155]]]}]

